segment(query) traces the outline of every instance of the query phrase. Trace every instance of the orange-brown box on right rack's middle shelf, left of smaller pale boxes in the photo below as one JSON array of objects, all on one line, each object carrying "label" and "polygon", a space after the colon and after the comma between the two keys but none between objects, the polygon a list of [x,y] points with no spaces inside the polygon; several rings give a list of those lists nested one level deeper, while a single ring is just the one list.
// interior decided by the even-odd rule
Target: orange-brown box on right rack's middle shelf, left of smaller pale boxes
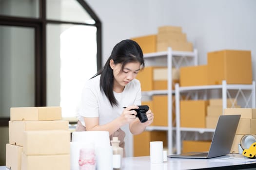
[{"label": "orange-brown box on right rack's middle shelf, left of smaller pale boxes", "polygon": [[205,128],[206,107],[209,101],[180,101],[180,126]]}]

